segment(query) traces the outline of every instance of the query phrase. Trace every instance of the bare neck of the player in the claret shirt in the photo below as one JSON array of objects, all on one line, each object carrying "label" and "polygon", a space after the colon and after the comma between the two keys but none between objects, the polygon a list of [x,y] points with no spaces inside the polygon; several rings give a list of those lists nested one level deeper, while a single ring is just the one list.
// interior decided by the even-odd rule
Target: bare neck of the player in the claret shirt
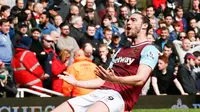
[{"label": "bare neck of the player in the claret shirt", "polygon": [[135,45],[144,41],[147,41],[146,33],[140,32],[137,37],[133,39],[132,44]]}]

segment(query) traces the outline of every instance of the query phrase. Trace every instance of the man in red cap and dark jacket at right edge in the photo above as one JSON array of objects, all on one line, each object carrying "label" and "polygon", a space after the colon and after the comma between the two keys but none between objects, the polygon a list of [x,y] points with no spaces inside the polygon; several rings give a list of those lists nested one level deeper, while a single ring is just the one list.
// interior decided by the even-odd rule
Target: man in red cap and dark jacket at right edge
[{"label": "man in red cap and dark jacket at right edge", "polygon": [[178,68],[178,80],[183,89],[188,94],[200,95],[200,90],[197,86],[197,79],[200,78],[200,73],[194,72],[196,57],[192,53],[186,53],[184,63]]}]

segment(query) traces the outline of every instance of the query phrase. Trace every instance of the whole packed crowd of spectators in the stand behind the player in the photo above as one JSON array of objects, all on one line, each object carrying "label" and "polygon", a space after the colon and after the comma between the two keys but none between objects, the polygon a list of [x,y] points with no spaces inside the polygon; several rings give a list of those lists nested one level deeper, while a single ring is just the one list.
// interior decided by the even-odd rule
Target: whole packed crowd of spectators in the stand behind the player
[{"label": "whole packed crowd of spectators in the stand behind the player", "polygon": [[96,66],[112,67],[131,46],[124,25],[132,13],[149,18],[147,40],[160,51],[141,95],[199,95],[200,0],[0,0],[0,96],[31,86],[93,91],[58,75],[90,80]]}]

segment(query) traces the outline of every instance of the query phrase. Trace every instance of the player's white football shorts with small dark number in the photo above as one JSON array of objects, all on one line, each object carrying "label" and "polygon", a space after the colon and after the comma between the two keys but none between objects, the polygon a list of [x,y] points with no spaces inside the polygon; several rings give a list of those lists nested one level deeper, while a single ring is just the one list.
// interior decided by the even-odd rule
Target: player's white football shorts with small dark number
[{"label": "player's white football shorts with small dark number", "polygon": [[110,112],[124,112],[124,100],[121,95],[111,89],[97,89],[87,95],[75,97],[68,103],[75,112],[86,112],[96,102],[103,102]]}]

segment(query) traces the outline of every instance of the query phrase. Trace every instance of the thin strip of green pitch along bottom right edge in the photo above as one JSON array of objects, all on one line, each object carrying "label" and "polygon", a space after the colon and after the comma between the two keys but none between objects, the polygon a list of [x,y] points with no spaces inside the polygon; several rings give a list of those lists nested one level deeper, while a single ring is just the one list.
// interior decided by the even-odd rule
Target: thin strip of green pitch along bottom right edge
[{"label": "thin strip of green pitch along bottom right edge", "polygon": [[134,109],[131,112],[200,112],[199,109]]}]

